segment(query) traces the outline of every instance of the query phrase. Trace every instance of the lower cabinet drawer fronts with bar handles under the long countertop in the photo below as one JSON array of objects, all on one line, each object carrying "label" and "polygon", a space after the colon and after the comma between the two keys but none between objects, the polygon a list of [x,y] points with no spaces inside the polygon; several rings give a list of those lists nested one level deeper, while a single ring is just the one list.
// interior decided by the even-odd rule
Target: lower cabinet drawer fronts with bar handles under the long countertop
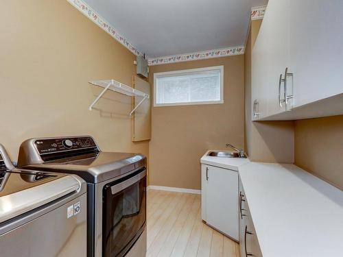
[{"label": "lower cabinet drawer fronts with bar handles under the long countertop", "polygon": [[239,248],[241,257],[262,257],[241,180],[239,180]]}]

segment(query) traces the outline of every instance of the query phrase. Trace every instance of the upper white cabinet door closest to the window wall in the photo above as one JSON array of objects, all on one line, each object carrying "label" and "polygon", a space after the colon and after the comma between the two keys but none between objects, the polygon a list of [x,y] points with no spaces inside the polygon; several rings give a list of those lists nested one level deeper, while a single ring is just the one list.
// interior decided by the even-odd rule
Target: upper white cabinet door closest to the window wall
[{"label": "upper white cabinet door closest to the window wall", "polygon": [[252,49],[252,102],[259,101],[260,119],[285,111],[285,103],[279,105],[279,78],[289,64],[288,15],[289,0],[270,0]]}]

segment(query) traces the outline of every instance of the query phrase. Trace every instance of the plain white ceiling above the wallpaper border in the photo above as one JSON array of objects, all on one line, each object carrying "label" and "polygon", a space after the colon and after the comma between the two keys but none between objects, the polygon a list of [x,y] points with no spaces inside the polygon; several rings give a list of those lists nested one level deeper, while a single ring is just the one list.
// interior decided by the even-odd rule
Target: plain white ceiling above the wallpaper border
[{"label": "plain white ceiling above the wallpaper border", "polygon": [[268,0],[84,0],[148,57],[244,45]]}]

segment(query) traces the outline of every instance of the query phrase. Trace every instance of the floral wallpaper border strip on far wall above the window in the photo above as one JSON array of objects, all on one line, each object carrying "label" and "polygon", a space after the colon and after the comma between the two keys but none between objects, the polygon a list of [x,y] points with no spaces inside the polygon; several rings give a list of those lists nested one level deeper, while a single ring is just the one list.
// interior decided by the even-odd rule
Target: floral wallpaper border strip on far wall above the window
[{"label": "floral wallpaper border strip on far wall above the window", "polygon": [[209,58],[219,58],[224,56],[237,56],[239,54],[244,54],[244,47],[228,47],[224,49],[216,49],[209,51],[198,51],[194,53],[178,54],[175,56],[164,56],[157,58],[149,58],[147,64],[149,66],[158,64],[169,64],[173,62],[187,62],[193,60],[203,60]]}]

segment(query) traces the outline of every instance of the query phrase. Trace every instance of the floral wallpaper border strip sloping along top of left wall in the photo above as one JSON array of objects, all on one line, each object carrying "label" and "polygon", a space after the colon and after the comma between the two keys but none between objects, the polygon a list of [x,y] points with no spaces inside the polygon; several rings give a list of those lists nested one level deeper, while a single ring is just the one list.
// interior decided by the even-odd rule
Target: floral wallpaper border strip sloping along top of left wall
[{"label": "floral wallpaper border strip sloping along top of left wall", "polygon": [[97,24],[99,27],[104,29],[110,36],[115,38],[115,40],[119,41],[121,45],[129,49],[132,53],[134,53],[136,56],[143,56],[143,53],[141,53],[136,47],[130,44],[126,38],[121,36],[117,30],[112,27],[105,19],[103,19],[97,12],[95,12],[89,5],[84,3],[82,0],[67,0],[71,5],[73,5],[76,9],[78,9],[82,14],[88,17],[91,21],[93,21],[95,24]]}]

